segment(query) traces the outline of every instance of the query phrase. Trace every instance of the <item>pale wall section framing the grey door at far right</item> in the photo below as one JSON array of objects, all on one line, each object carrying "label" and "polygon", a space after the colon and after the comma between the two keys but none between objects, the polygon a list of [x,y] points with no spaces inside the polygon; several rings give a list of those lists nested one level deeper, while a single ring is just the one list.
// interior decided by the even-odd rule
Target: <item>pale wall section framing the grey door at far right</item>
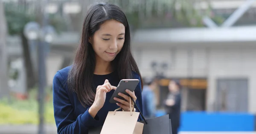
[{"label": "pale wall section framing the grey door at far right", "polygon": [[248,111],[256,113],[256,47],[212,48],[209,51],[207,109],[213,110],[217,78],[248,78]]}]

